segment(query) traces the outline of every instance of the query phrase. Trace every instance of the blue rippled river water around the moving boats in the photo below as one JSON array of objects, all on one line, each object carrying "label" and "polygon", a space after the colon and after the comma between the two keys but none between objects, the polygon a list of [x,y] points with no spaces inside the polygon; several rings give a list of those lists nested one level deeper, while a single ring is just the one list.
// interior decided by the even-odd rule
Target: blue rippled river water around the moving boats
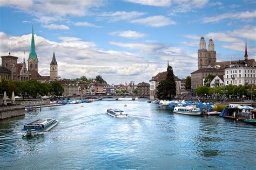
[{"label": "blue rippled river water around the moving boats", "polygon": [[[124,104],[127,107],[124,107]],[[5,169],[187,169],[256,167],[256,126],[218,116],[173,114],[146,101],[96,101],[42,108],[0,122]],[[126,118],[106,115],[122,109]],[[23,136],[25,123],[57,118],[55,128]]]}]

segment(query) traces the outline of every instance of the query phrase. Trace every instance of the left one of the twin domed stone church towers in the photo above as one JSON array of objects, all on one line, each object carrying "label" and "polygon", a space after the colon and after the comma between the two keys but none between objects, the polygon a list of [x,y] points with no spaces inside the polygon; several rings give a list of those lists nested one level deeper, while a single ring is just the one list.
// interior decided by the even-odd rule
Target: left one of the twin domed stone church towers
[{"label": "left one of the twin domed stone church towers", "polygon": [[207,56],[207,49],[204,37],[200,39],[200,48],[198,49],[198,69],[206,68],[208,66],[208,56]]}]

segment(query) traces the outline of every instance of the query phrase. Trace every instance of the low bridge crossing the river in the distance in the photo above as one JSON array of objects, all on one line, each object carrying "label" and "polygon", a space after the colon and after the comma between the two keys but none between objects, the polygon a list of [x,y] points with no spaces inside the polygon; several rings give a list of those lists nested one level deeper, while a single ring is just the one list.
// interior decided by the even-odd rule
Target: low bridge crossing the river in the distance
[{"label": "low bridge crossing the river in the distance", "polygon": [[[149,96],[147,96],[147,95],[91,95],[91,96],[83,95],[82,96],[82,98],[84,98],[84,99],[97,99],[97,100],[102,100],[103,98],[114,98],[114,99],[118,100],[118,98],[122,98],[122,97],[131,97],[132,100],[135,100],[135,98],[149,99]],[[75,99],[80,99],[81,96],[65,97],[65,100],[68,100],[68,98],[75,100]]]}]

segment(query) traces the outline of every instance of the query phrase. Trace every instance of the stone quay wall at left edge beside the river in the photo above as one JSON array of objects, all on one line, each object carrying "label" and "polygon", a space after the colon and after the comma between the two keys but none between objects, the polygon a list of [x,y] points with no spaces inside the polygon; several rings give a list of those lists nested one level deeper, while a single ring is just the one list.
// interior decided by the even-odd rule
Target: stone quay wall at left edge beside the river
[{"label": "stone quay wall at left edge beside the river", "polygon": [[11,105],[0,108],[0,120],[25,115],[24,105]]}]

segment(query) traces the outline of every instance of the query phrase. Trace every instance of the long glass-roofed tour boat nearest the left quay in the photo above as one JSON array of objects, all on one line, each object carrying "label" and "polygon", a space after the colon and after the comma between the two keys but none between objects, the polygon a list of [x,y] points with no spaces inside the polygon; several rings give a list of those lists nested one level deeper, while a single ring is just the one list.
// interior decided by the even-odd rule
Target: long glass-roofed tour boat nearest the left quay
[{"label": "long glass-roofed tour boat nearest the left quay", "polygon": [[38,119],[37,121],[28,123],[24,125],[22,131],[26,132],[28,135],[33,135],[38,132],[46,132],[57,125],[58,121],[52,118]]}]

